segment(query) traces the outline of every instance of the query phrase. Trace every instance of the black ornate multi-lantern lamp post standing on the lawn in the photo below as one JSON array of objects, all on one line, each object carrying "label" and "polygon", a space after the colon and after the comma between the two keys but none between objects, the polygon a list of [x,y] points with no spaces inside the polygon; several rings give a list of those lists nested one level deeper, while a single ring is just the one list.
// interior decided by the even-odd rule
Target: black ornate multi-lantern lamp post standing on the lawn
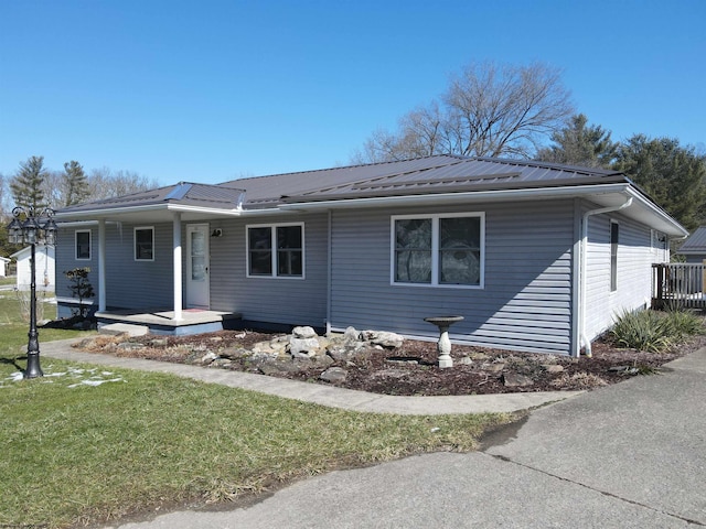
[{"label": "black ornate multi-lantern lamp post standing on the lawn", "polygon": [[8,239],[13,245],[30,245],[32,247],[32,259],[30,261],[31,283],[30,283],[30,341],[26,345],[26,369],[24,378],[43,377],[40,367],[40,341],[36,332],[36,263],[34,261],[34,249],[38,242],[46,245],[56,244],[56,223],[52,219],[54,209],[35,209],[33,207],[18,206],[12,209],[12,222],[8,225]]}]

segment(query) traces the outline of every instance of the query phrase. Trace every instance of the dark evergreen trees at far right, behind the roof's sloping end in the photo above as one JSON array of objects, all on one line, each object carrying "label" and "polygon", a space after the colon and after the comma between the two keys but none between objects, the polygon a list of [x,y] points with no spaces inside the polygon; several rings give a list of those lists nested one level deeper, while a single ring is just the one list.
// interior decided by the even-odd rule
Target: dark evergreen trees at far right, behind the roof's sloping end
[{"label": "dark evergreen trees at far right, behind the roof's sloping end", "polygon": [[614,169],[640,185],[670,215],[692,230],[706,213],[706,155],[673,138],[635,134],[622,143]]}]

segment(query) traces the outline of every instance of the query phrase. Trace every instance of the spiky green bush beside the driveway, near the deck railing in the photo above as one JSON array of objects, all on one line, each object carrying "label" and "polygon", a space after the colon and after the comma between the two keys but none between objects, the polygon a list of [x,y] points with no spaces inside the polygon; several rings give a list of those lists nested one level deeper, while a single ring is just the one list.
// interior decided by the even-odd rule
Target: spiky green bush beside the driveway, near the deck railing
[{"label": "spiky green bush beside the driveway, near the deck railing", "polygon": [[610,331],[617,345],[651,353],[661,353],[688,336],[703,333],[702,317],[684,310],[623,311]]}]

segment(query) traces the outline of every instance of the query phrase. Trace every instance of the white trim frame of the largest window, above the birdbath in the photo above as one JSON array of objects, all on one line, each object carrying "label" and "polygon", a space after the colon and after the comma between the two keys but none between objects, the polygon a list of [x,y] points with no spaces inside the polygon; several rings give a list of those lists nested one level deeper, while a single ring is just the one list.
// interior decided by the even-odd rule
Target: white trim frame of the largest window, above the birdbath
[{"label": "white trim frame of the largest window, above the birdbath", "polygon": [[[457,217],[480,218],[480,278],[479,284],[446,284],[439,283],[439,219]],[[429,283],[405,283],[395,281],[395,222],[409,218],[431,219],[431,282]],[[392,215],[389,217],[389,284],[393,287],[420,287],[432,289],[467,289],[482,290],[485,288],[485,213],[443,213],[443,214],[419,214],[419,215]]]}]

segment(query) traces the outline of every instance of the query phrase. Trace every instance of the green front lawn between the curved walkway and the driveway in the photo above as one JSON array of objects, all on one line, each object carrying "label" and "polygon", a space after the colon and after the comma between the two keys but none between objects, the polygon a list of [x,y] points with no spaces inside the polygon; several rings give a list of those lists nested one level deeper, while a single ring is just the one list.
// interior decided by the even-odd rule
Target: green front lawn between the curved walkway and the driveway
[{"label": "green front lawn between the curved walkway and the driveway", "polygon": [[[355,413],[51,358],[43,378],[18,380],[26,325],[17,303],[0,299],[0,527],[106,521],[333,468],[469,451],[485,429],[513,420]],[[40,342],[77,334],[40,330]]]}]

